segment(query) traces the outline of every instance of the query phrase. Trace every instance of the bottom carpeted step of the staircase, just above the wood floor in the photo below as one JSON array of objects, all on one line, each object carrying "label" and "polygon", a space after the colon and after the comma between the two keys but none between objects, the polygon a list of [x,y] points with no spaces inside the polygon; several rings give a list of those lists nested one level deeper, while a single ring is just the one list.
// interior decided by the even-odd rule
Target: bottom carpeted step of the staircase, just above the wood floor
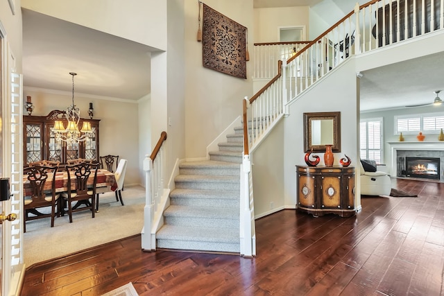
[{"label": "bottom carpeted step of the staircase, just above the wood floor", "polygon": [[156,237],[157,239],[177,241],[239,243],[239,229],[163,225]]}]

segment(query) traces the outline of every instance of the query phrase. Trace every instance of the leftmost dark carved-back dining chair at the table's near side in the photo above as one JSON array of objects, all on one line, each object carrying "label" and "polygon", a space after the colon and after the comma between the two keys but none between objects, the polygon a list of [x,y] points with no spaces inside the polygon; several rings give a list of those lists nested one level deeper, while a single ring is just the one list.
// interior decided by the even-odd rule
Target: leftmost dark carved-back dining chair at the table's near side
[{"label": "leftmost dark carved-back dining chair at the table's near side", "polygon": [[[28,220],[51,217],[51,227],[54,227],[56,214],[60,216],[60,194],[56,194],[55,182],[57,171],[58,166],[35,165],[24,168],[23,174],[28,180],[26,183],[29,182],[24,184],[24,232],[26,232],[26,221]],[[50,189],[47,188],[48,186],[45,188],[46,181],[51,182]],[[44,207],[51,207],[51,214],[42,213],[41,208]]]}]

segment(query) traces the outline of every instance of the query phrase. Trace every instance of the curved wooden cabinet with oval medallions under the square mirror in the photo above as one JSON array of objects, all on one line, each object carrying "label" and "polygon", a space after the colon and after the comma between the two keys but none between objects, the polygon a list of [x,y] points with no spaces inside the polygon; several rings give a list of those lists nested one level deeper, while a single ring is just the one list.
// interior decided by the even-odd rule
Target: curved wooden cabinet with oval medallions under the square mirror
[{"label": "curved wooden cabinet with oval medallions under the square mirror", "polygon": [[355,215],[355,168],[296,166],[296,208],[313,216]]}]

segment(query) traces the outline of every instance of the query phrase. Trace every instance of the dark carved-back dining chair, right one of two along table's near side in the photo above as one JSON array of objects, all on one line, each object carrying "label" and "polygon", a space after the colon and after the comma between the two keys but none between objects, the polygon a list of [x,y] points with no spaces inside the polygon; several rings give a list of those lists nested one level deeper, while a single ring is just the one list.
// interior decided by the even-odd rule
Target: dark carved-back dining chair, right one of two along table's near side
[{"label": "dark carved-back dining chair, right one of two along table's near side", "polygon": [[[63,199],[67,202],[69,223],[72,223],[72,213],[89,209],[94,218],[96,207],[96,182],[97,168],[99,164],[89,164],[82,162],[66,166],[68,174],[68,191],[62,193]],[[88,184],[88,179],[92,174],[92,184]],[[90,182],[89,182],[90,183]],[[74,188],[74,189],[73,189]],[[73,206],[73,202],[76,204]],[[85,207],[80,207],[85,204]]]}]

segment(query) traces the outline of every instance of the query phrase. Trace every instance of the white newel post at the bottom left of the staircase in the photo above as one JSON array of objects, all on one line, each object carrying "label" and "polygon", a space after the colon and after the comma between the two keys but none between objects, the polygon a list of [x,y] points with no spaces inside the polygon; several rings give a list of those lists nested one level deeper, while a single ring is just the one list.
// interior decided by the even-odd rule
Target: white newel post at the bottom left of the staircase
[{"label": "white newel post at the bottom left of the staircase", "polygon": [[151,173],[153,172],[153,160],[146,155],[144,159],[145,171],[145,207],[144,207],[144,229],[142,230],[142,249],[155,250],[155,236],[151,238],[153,222],[153,188],[151,184]]}]

